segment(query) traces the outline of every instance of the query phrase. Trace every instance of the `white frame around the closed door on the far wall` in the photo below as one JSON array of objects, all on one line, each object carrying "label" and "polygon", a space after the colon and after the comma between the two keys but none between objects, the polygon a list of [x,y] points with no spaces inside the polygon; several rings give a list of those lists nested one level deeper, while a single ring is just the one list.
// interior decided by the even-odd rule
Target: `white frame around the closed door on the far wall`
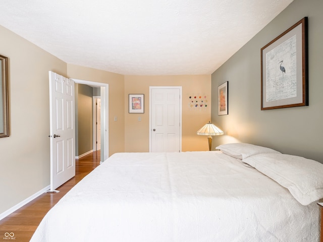
[{"label": "white frame around the closed door on the far wall", "polygon": [[151,99],[152,99],[152,89],[180,89],[180,110],[179,110],[179,115],[180,115],[180,152],[182,152],[182,106],[183,106],[183,102],[182,102],[182,86],[149,86],[149,152],[151,152],[152,149],[152,139],[151,139],[151,133],[152,133],[152,128],[151,128],[151,109],[152,109],[152,105],[151,105]]}]

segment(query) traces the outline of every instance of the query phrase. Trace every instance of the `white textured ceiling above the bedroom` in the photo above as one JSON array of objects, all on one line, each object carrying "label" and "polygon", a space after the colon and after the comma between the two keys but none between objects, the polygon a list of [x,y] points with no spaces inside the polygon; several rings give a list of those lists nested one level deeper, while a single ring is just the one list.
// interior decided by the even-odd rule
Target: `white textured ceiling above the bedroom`
[{"label": "white textured ceiling above the bedroom", "polygon": [[217,70],[291,2],[1,0],[0,25],[68,64],[199,75]]}]

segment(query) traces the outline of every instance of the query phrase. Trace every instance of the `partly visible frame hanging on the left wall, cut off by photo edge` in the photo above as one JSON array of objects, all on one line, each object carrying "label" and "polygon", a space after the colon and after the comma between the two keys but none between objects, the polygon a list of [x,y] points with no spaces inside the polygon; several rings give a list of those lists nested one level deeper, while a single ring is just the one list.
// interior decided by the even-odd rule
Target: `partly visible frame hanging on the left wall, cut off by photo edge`
[{"label": "partly visible frame hanging on the left wall, cut off by photo edge", "polygon": [[0,138],[9,137],[8,57],[0,55]]}]

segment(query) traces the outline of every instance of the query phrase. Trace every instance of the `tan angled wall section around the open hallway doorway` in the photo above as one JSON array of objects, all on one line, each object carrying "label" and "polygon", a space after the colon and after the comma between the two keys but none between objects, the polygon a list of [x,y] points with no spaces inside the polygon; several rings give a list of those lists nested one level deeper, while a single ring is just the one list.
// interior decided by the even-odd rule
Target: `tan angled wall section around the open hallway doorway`
[{"label": "tan angled wall section around the open hallway doorway", "polygon": [[69,78],[109,84],[109,155],[124,152],[124,76],[70,64],[67,67]]}]

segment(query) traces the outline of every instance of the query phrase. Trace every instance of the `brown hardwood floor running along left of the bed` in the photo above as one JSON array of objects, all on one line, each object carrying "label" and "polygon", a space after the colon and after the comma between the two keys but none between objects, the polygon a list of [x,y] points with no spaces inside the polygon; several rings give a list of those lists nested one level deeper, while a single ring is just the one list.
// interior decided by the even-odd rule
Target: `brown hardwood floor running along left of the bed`
[{"label": "brown hardwood floor running along left of the bed", "polygon": [[[41,219],[72,187],[100,163],[100,151],[76,160],[75,176],[59,187],[59,193],[44,193],[8,217],[0,220],[0,241],[29,242]],[[14,233],[15,240],[5,233]],[[10,237],[10,236],[9,236]]]}]

